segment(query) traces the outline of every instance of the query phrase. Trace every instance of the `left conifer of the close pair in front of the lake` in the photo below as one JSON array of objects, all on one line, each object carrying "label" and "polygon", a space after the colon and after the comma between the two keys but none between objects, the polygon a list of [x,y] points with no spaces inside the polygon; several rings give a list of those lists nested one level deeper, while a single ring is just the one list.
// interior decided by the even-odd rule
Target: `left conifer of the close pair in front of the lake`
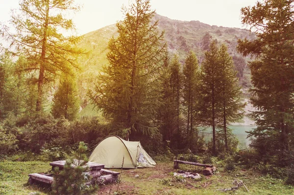
[{"label": "left conifer of the close pair in front of the lake", "polygon": [[199,75],[201,100],[199,118],[205,126],[212,126],[213,154],[217,154],[216,127],[221,117],[221,80],[222,67],[219,63],[217,41],[210,44],[209,51],[205,52],[205,59],[201,65]]}]

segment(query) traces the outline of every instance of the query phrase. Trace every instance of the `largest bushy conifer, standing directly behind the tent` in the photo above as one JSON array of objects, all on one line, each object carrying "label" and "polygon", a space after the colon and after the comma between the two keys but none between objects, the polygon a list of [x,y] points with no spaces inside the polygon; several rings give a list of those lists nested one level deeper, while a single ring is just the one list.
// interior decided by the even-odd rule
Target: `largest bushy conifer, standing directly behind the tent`
[{"label": "largest bushy conifer, standing directly behind the tent", "polygon": [[108,43],[109,66],[99,75],[95,93],[90,94],[113,129],[125,137],[157,132],[159,72],[166,56],[164,32],[151,23],[154,11],[149,0],[135,0],[124,8],[125,18],[117,23],[117,38]]}]

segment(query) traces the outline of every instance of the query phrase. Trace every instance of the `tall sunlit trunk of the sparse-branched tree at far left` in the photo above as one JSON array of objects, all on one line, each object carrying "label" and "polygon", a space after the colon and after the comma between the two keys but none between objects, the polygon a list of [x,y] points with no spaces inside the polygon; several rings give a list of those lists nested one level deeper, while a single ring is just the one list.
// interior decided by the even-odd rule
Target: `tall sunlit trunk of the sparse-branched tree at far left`
[{"label": "tall sunlit trunk of the sparse-branched tree at far left", "polygon": [[38,98],[36,102],[36,112],[40,112],[42,110],[45,57],[46,57],[46,45],[47,45],[47,38],[48,38],[48,24],[49,24],[49,0],[46,0],[46,18],[45,18],[45,24],[44,24],[44,35],[42,40],[42,52],[40,57],[40,72],[39,72],[39,79],[38,79]]}]

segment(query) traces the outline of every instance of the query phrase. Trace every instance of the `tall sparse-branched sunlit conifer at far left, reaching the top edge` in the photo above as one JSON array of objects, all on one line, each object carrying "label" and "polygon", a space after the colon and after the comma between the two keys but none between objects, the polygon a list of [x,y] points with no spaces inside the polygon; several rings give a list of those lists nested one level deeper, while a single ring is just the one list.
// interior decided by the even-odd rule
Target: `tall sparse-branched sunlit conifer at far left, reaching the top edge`
[{"label": "tall sparse-branched sunlit conifer at far left, reaching the top edge", "polygon": [[43,85],[52,81],[58,72],[77,67],[75,58],[82,53],[75,47],[80,38],[63,36],[61,30],[74,30],[72,20],[66,19],[69,10],[76,11],[73,0],[21,0],[20,13],[13,13],[10,23],[15,33],[4,26],[0,35],[11,41],[13,49],[26,57],[24,71],[35,75],[38,86],[36,111],[42,110]]}]

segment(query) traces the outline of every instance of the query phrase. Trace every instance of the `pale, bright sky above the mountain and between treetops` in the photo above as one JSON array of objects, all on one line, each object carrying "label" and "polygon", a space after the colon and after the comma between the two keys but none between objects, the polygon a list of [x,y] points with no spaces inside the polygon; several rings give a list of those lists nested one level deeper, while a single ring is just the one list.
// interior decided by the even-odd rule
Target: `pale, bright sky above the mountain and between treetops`
[{"label": "pale, bright sky above the mountain and between treetops", "polygon": [[[240,9],[255,5],[257,0],[150,0],[151,9],[174,20],[200,21],[205,24],[239,27]],[[82,35],[123,19],[122,5],[130,0],[75,0],[82,8],[73,17],[77,34]],[[19,0],[0,0],[0,22],[10,19],[11,9]],[[244,27],[243,27],[244,28]]]}]

